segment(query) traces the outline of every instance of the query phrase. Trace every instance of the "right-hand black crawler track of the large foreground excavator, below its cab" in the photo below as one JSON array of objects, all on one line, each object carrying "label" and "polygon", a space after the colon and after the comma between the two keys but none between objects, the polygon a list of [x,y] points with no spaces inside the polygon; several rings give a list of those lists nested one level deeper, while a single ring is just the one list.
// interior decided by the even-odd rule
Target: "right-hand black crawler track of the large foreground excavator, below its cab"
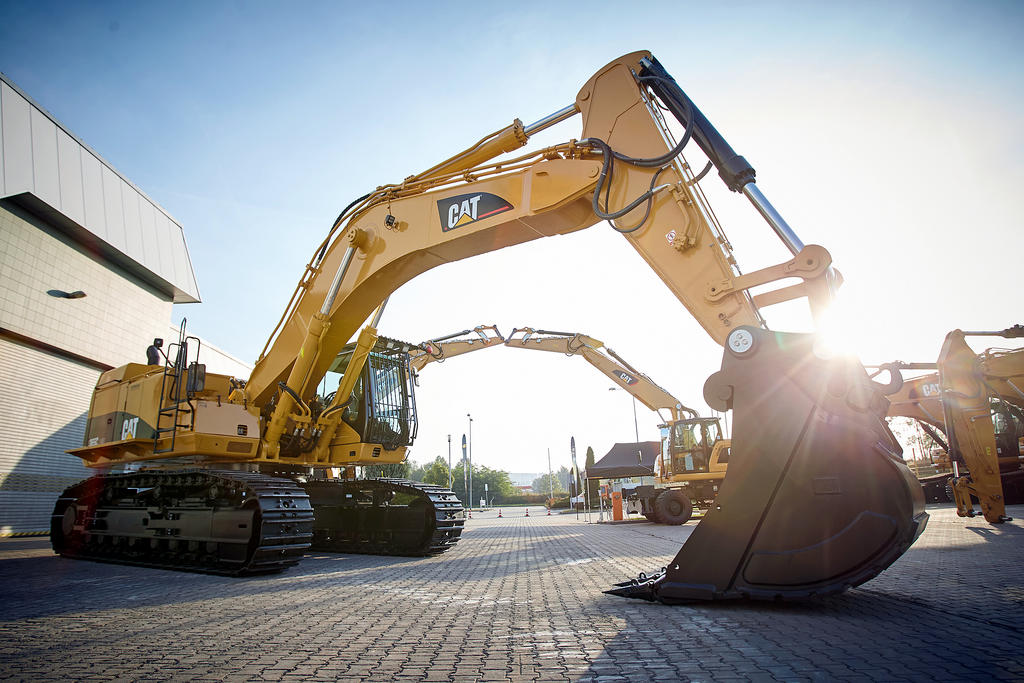
[{"label": "right-hand black crawler track of the large foreground excavator, below its cab", "polygon": [[369,555],[437,555],[462,536],[465,511],[443,486],[408,479],[303,484],[312,502],[312,550]]}]

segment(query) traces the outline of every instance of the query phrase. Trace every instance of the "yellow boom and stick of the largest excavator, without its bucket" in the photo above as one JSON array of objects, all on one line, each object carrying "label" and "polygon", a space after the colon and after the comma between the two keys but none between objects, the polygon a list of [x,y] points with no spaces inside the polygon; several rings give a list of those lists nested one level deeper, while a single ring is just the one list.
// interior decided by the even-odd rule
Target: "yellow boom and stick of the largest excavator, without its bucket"
[{"label": "yellow boom and stick of the largest excavator, without its bucket", "polygon": [[[266,404],[281,382],[303,398],[312,395],[364,321],[415,275],[606,217],[617,221],[613,226],[719,343],[738,326],[763,329],[759,305],[798,297],[824,305],[834,280],[820,247],[788,240],[794,258],[739,272],[728,240],[691,184],[693,175],[679,155],[682,144],[667,142],[672,133],[640,80],[666,82],[664,76],[643,76],[656,63],[651,60],[646,52],[626,55],[598,72],[557,116],[527,127],[516,122],[429,171],[353,203],[307,264],[250,377],[248,399]],[[691,103],[686,109],[695,112]],[[580,140],[485,163],[525,143],[562,112],[582,115]],[[695,118],[687,130],[697,125]],[[749,196],[756,191],[753,184],[743,185]],[[756,304],[751,288],[787,278],[802,283],[761,294]],[[288,415],[293,408],[286,393],[275,413]],[[274,437],[271,430],[271,450]]]}]

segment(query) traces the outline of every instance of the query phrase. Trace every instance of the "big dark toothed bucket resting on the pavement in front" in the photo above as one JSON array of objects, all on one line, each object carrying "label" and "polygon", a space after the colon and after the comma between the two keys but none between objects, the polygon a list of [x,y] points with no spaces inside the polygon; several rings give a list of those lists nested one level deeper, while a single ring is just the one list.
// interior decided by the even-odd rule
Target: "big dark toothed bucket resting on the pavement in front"
[{"label": "big dark toothed bucket resting on the pavement in front", "polygon": [[882,419],[888,401],[855,359],[818,357],[813,335],[737,328],[705,398],[734,412],[715,507],[663,571],[608,593],[666,603],[840,593],[924,530],[921,484]]}]

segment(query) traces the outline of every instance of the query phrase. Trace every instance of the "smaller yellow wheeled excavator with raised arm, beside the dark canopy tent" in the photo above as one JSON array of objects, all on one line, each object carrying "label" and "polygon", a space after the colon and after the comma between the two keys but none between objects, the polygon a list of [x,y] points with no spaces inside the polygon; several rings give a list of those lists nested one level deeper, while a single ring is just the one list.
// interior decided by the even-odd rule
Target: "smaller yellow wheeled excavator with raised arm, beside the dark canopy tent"
[{"label": "smaller yellow wheeled excavator with raised arm, beside the dark canopy tent", "polygon": [[[728,470],[732,442],[724,438],[718,418],[702,418],[652,379],[626,361],[603,342],[588,335],[516,328],[506,346],[583,356],[605,377],[641,403],[662,415],[662,454],[654,485],[637,486],[631,500],[640,513],[658,524],[685,524],[693,509],[714,505]],[[662,414],[668,412],[668,417]]]}]

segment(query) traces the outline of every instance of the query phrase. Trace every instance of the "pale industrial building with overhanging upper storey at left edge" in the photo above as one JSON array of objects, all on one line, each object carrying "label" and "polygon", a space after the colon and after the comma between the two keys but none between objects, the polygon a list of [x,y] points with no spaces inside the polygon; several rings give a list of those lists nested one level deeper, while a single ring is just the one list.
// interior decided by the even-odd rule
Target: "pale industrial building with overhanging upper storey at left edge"
[{"label": "pale industrial building with overhanging upper storey at left edge", "polygon": [[[99,374],[177,340],[199,303],[182,226],[0,75],[0,536],[45,532],[90,475],[82,445]],[[211,372],[250,367],[204,343]]]}]

